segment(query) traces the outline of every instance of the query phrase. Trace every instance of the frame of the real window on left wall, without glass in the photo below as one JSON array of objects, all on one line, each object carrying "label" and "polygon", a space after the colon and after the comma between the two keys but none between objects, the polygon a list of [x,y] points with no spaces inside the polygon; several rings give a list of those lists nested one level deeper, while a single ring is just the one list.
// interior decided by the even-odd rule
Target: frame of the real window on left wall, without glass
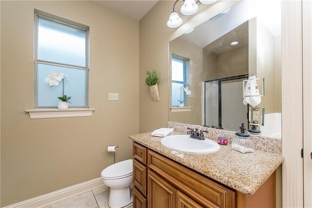
[{"label": "frame of the real window on left wall, without glass", "polygon": [[[39,29],[39,17],[44,18],[44,19],[51,19],[53,21],[57,21],[59,23],[69,25],[72,27],[76,27],[82,30],[85,30],[87,32],[86,35],[86,67],[81,67],[81,66],[76,66],[76,65],[71,65],[71,64],[64,64],[64,63],[58,63],[58,62],[53,62],[53,61],[47,61],[47,60],[40,60],[38,59],[38,29]],[[87,109],[89,108],[89,27],[68,19],[60,18],[55,15],[51,15],[42,11],[39,11],[35,9],[35,53],[34,53],[34,72],[35,72],[35,97],[34,97],[34,109],[55,109],[57,108],[56,106],[51,106],[51,107],[40,107],[38,106],[38,83],[37,83],[37,67],[38,64],[48,64],[52,66],[60,66],[60,67],[67,67],[67,68],[73,68],[77,70],[86,70],[86,97],[85,97],[85,106],[81,107],[69,107],[69,109]]]}]

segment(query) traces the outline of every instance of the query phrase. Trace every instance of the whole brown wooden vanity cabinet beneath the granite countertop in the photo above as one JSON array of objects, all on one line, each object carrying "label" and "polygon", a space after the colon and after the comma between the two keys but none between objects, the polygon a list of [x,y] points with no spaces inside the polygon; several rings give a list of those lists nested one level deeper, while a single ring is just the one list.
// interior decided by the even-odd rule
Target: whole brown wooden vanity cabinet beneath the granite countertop
[{"label": "whole brown wooden vanity cabinet beneath the granite countertop", "polygon": [[275,207],[274,173],[247,196],[135,142],[133,171],[135,208]]}]

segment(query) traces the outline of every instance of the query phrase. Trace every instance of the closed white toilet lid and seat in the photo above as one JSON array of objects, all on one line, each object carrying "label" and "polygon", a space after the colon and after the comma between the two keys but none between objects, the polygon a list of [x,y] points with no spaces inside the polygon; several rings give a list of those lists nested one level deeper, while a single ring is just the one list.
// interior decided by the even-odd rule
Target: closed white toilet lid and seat
[{"label": "closed white toilet lid and seat", "polygon": [[115,163],[101,172],[101,177],[106,180],[115,180],[131,176],[133,173],[132,159]]}]

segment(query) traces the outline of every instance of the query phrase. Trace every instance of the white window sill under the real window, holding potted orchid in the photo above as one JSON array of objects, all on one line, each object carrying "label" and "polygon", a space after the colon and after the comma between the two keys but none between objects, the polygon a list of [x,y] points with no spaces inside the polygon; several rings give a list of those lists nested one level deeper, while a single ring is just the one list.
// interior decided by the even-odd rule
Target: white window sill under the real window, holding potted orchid
[{"label": "white window sill under the real window, holding potted orchid", "polygon": [[65,110],[59,109],[32,109],[25,110],[29,113],[30,119],[38,118],[64,118],[64,117],[85,117],[91,116],[95,109],[93,108],[71,108]]}]

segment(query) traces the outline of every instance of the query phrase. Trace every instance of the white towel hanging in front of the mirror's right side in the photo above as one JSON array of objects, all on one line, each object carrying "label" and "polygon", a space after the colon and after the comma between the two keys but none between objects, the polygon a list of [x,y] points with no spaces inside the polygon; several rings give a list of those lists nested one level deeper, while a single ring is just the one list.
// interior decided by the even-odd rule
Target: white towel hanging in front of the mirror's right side
[{"label": "white towel hanging in front of the mirror's right side", "polygon": [[243,103],[247,105],[251,105],[252,107],[256,107],[261,103],[261,96],[259,94],[257,80],[255,80],[255,76],[250,76],[247,80],[245,86],[245,96]]}]

